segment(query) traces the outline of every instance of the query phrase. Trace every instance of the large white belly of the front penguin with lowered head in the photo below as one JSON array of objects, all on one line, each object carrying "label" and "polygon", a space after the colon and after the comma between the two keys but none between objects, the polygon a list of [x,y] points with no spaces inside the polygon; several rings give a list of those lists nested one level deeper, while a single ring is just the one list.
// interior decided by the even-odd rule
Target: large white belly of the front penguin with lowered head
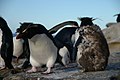
[{"label": "large white belly of the front penguin with lowered head", "polygon": [[38,67],[47,64],[48,61],[55,62],[57,57],[57,47],[45,34],[35,35],[29,39],[30,63]]}]

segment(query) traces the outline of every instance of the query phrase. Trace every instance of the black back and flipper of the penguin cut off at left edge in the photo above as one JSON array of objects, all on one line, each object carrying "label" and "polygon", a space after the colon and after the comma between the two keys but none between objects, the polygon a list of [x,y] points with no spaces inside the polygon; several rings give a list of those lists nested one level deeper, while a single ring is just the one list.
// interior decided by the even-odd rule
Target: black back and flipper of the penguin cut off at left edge
[{"label": "black back and flipper of the penguin cut off at left edge", "polygon": [[1,44],[1,57],[5,62],[5,67],[11,69],[11,73],[16,73],[12,65],[13,57],[13,35],[12,31],[7,25],[7,22],[0,17],[0,29],[2,30],[2,44]]}]

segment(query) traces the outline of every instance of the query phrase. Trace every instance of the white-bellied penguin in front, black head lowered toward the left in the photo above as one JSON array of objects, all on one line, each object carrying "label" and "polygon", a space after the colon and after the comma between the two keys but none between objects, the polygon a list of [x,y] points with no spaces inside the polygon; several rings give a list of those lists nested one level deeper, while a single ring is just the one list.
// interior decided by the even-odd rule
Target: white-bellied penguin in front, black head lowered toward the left
[{"label": "white-bellied penguin in front, black head lowered toward the left", "polygon": [[36,67],[46,65],[48,69],[44,73],[50,73],[57,58],[57,47],[47,29],[41,24],[30,24],[16,38],[28,38],[32,65],[28,72],[36,72]]}]

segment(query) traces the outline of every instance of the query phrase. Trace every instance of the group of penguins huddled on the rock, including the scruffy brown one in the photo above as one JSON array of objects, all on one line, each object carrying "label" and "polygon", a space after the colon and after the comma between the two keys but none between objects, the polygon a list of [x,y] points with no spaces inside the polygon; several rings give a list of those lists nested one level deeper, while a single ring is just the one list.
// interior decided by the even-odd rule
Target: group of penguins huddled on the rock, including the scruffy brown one
[{"label": "group of penguins huddled on the rock, including the scruffy brown one", "polygon": [[[5,67],[16,73],[12,65],[13,55],[18,58],[25,53],[26,61],[22,68],[27,68],[29,63],[32,65],[27,72],[36,72],[37,67],[46,65],[47,70],[43,73],[48,74],[55,63],[67,67],[71,62],[77,62],[83,71],[104,70],[109,48],[100,27],[93,23],[93,18],[78,19],[81,21],[80,26],[76,21],[66,21],[49,30],[42,24],[21,23],[13,38],[7,22],[0,17],[0,55]],[[66,25],[72,27],[63,28]],[[59,29],[61,30],[57,32]]]}]

